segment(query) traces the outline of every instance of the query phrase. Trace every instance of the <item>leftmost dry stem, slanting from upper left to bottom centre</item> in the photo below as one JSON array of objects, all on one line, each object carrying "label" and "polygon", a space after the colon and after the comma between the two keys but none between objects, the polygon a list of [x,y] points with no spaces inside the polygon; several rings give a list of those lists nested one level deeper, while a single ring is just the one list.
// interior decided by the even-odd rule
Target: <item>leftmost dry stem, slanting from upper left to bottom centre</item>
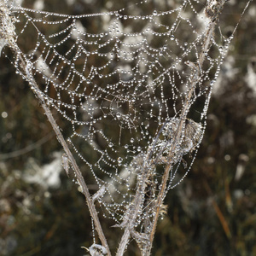
[{"label": "leftmost dry stem, slanting from upper left to bottom centre", "polygon": [[13,51],[13,53],[16,56],[16,61],[20,61],[20,67],[23,71],[22,76],[24,77],[24,79],[27,80],[27,82],[31,86],[31,89],[33,90],[35,95],[38,97],[38,100],[41,103],[41,106],[44,108],[44,113],[46,114],[50,124],[52,125],[53,130],[55,131],[55,135],[59,143],[61,143],[61,146],[63,147],[65,153],[67,154],[67,158],[70,161],[70,164],[73,167],[73,171],[82,188],[82,193],[85,196],[85,200],[89,207],[91,218],[93,218],[97,233],[99,235],[100,240],[102,241],[102,246],[107,249],[108,256],[111,256],[111,253],[108,247],[108,242],[106,240],[106,237],[104,236],[102,226],[96,212],[96,207],[90,196],[89,189],[86,183],[84,182],[84,177],[82,176],[82,173],[79,170],[79,166],[77,165],[76,160],[73,157],[73,154],[71,153],[64,137],[61,134],[59,126],[56,124],[55,119],[44,100],[43,93],[41,93],[41,91],[38,89],[38,84],[36,83],[35,79],[32,76],[32,73],[31,73],[32,63],[26,60],[26,56],[22,54],[22,52],[19,49],[19,46],[16,44],[16,34],[15,34],[14,23],[15,23],[15,20],[12,20],[11,13],[7,5],[4,3],[3,0],[0,0],[0,39],[2,40],[1,42],[4,43],[3,46],[5,45],[9,46],[9,48]]}]

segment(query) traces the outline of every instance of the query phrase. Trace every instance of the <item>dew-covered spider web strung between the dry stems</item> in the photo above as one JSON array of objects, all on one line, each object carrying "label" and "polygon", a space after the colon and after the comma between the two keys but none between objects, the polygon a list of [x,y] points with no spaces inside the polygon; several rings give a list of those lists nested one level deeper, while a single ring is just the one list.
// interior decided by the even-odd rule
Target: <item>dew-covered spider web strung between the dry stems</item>
[{"label": "dew-covered spider web strung between the dry stems", "polygon": [[[153,204],[168,162],[172,170],[166,192],[180,183],[195,160],[212,85],[231,40],[216,31],[202,67],[195,65],[207,32],[206,3],[142,1],[88,15],[9,3],[16,43],[26,60],[26,72],[19,57],[13,61],[16,73],[26,80],[32,74],[74,154],[95,178],[98,192],[92,199],[117,224],[129,218],[127,209],[148,158],[144,209]],[[27,40],[30,44],[24,44]],[[195,76],[200,79],[181,116]],[[170,160],[180,119],[182,137]],[[63,163],[69,173],[66,156]],[[137,224],[146,218],[141,215]]]}]

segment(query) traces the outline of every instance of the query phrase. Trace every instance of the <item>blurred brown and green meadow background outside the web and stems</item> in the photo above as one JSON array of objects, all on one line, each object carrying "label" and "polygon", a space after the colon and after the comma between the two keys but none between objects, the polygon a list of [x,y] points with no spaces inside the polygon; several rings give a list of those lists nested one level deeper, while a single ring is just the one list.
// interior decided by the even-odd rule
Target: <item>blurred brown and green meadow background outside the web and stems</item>
[{"label": "blurred brown and green meadow background outside the web and stems", "polygon": [[[73,15],[126,4],[21,2],[27,8]],[[148,2],[154,9],[156,1]],[[162,2],[168,8],[174,4]],[[230,0],[222,21],[236,24],[246,3]],[[192,170],[166,197],[168,212],[158,224],[152,255],[256,255],[255,16],[254,1],[221,67]],[[97,25],[90,24],[94,29]],[[38,99],[4,56],[0,99],[0,255],[86,255],[80,247],[90,247],[92,233],[84,195],[62,170],[61,147]],[[89,187],[90,180],[93,187],[88,175]],[[109,228],[113,223],[107,218],[102,223],[114,252],[120,234]],[[125,255],[139,255],[136,242]]]}]

